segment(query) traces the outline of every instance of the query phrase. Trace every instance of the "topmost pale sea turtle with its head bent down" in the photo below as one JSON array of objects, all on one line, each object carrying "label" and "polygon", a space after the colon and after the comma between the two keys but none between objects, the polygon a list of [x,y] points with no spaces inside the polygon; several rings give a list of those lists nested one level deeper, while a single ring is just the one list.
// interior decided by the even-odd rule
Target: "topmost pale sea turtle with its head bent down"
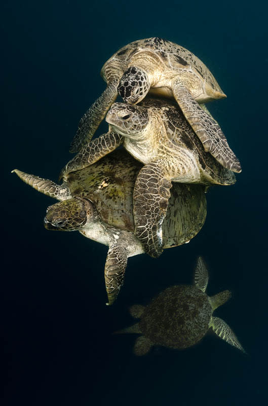
[{"label": "topmost pale sea turtle with its head bent down", "polygon": [[218,123],[199,104],[226,97],[206,65],[192,52],[158,37],[134,41],[108,59],[101,76],[106,90],[79,123],[70,152],[78,152],[92,138],[118,92],[135,105],[150,90],[174,97],[193,130],[223,166],[240,172],[239,160],[229,148]]}]

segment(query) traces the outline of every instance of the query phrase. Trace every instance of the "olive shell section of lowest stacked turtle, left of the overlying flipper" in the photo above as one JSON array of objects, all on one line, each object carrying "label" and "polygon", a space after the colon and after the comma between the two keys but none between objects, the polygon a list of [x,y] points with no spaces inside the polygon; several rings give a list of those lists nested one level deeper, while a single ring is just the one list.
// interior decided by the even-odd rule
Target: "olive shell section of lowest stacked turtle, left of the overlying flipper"
[{"label": "olive shell section of lowest stacked turtle, left of the overlying flipper", "polygon": [[124,149],[68,175],[72,196],[91,200],[102,221],[134,231],[133,189],[141,164]]}]

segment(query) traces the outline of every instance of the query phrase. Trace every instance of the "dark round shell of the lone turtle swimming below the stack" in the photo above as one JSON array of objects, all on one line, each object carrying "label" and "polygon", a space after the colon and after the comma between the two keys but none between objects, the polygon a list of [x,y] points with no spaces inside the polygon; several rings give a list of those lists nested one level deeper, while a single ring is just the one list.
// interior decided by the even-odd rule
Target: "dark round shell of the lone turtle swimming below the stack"
[{"label": "dark round shell of the lone turtle swimming below the stack", "polygon": [[139,322],[145,337],[156,345],[187,348],[206,334],[212,308],[206,293],[195,286],[165,289],[146,306]]}]

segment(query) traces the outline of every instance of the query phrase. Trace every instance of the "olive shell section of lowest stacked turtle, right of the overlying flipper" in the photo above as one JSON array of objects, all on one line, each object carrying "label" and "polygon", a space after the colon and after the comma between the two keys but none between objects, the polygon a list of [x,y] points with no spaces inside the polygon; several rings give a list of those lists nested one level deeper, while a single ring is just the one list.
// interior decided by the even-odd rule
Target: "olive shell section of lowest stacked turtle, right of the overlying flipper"
[{"label": "olive shell section of lowest stacked turtle, right of the overlying flipper", "polygon": [[203,227],[206,215],[205,186],[173,182],[162,226],[164,248],[192,240]]}]

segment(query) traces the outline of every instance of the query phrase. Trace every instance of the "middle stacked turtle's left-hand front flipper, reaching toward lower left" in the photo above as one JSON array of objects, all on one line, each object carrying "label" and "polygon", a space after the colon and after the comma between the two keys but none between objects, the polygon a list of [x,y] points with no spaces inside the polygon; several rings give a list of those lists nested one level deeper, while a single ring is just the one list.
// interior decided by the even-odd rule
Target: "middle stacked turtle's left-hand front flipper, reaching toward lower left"
[{"label": "middle stacked turtle's left-hand front flipper, reaching toward lower left", "polygon": [[59,179],[65,180],[70,172],[79,171],[97,162],[103,156],[114,151],[124,141],[124,137],[117,132],[107,132],[95,138],[76,154],[61,170]]}]

